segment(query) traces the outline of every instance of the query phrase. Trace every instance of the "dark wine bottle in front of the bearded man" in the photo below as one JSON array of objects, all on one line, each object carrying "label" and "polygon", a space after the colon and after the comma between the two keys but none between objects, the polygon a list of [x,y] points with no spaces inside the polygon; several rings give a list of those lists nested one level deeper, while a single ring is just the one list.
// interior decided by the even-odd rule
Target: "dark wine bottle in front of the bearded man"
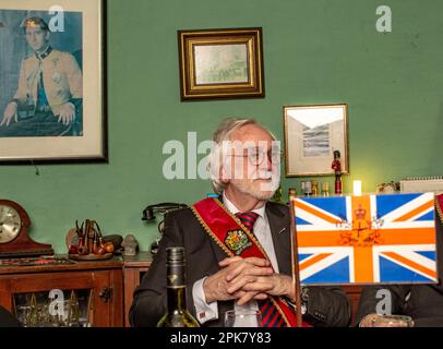
[{"label": "dark wine bottle in front of the bearded man", "polygon": [[157,327],[200,327],[187,309],[184,248],[168,248],[166,255],[168,310]]}]

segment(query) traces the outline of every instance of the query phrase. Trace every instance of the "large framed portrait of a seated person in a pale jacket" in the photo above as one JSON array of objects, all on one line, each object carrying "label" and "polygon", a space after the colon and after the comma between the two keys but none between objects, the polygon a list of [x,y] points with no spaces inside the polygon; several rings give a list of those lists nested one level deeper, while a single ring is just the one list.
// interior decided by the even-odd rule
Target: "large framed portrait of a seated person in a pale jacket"
[{"label": "large framed portrait of a seated person in a pale jacket", "polygon": [[106,1],[0,0],[0,164],[107,161]]}]

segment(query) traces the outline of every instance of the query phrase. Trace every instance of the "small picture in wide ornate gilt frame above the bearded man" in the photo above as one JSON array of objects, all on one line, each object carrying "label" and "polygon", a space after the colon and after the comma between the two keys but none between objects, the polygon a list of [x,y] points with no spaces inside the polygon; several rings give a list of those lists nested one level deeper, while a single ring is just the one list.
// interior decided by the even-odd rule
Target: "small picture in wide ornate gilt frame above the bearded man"
[{"label": "small picture in wide ornate gilt frame above the bearded man", "polygon": [[181,100],[264,97],[262,28],[178,31]]}]

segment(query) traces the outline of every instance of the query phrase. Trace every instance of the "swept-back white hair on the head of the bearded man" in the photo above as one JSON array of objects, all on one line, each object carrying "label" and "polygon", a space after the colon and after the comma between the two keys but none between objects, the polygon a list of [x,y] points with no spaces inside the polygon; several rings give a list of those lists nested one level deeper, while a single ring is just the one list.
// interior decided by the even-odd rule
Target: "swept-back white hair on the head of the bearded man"
[{"label": "swept-back white hair on the head of the bearded man", "polygon": [[214,146],[211,149],[211,155],[207,161],[207,169],[209,171],[211,181],[213,184],[213,190],[217,194],[222,194],[225,190],[225,183],[220,180],[220,168],[224,164],[226,157],[226,149],[224,148],[224,144],[227,144],[227,141],[231,141],[231,135],[235,131],[249,125],[258,125],[262,128],[267,133],[270,133],[271,137],[275,141],[276,137],[274,134],[262,127],[255,119],[253,118],[227,118],[222,121],[218,125],[217,130],[214,132],[213,143]]}]

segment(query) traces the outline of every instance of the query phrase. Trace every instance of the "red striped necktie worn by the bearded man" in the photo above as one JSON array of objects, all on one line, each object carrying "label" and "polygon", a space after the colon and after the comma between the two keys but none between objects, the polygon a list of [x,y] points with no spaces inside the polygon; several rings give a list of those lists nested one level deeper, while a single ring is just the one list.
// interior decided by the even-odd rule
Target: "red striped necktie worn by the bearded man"
[{"label": "red striped necktie worn by the bearded man", "polygon": [[[254,224],[259,214],[254,212],[237,213],[236,216],[251,233],[254,233]],[[274,303],[267,298],[258,300],[260,312],[262,313],[262,327],[286,327],[285,321]]]}]

